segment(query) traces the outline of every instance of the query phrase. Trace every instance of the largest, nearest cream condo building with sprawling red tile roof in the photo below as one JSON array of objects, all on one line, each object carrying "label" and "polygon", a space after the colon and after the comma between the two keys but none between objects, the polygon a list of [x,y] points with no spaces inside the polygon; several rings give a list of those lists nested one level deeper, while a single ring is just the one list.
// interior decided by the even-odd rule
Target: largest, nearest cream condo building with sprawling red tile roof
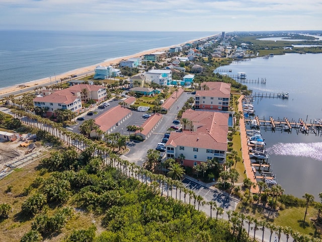
[{"label": "largest, nearest cream condo building with sprawling red tile roof", "polygon": [[228,113],[186,110],[183,118],[191,125],[182,133],[171,132],[166,143],[167,158],[174,158],[184,166],[196,166],[207,159],[226,160]]}]

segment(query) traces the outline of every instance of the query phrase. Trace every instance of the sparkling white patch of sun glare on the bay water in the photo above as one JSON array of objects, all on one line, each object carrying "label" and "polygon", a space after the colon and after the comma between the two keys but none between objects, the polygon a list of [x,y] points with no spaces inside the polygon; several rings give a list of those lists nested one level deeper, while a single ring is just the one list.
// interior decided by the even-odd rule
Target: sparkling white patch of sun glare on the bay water
[{"label": "sparkling white patch of sun glare on the bay water", "polygon": [[269,154],[309,157],[322,161],[322,142],[277,143],[267,149]]}]

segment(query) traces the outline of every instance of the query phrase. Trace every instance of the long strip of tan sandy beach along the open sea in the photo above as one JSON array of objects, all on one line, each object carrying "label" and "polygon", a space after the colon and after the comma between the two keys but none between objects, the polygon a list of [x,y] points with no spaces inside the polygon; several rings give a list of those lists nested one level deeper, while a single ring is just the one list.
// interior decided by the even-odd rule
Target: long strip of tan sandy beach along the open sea
[{"label": "long strip of tan sandy beach along the open sea", "polygon": [[[81,67],[81,68],[74,69],[74,70],[70,70],[70,71],[55,75],[54,77],[47,77],[47,78],[42,78],[42,79],[38,79],[38,80],[34,80],[34,81],[28,81],[28,82],[24,82],[24,83],[17,83],[13,86],[0,88],[0,95],[2,95],[2,97],[5,97],[5,96],[10,95],[12,92],[17,92],[17,91],[20,91],[21,93],[28,92],[28,91],[30,91],[31,87],[34,87],[34,88],[38,87],[39,88],[41,86],[44,87],[47,85],[55,84],[55,82],[59,83],[61,78],[69,77],[71,75],[77,75],[77,77],[83,76],[83,75],[92,75],[92,74],[94,74],[95,68],[97,66],[112,66],[112,65],[120,63],[120,61],[122,61],[123,59],[140,57],[142,55],[150,54],[150,53],[153,53],[156,51],[168,51],[169,48],[174,47],[174,46],[183,45],[186,43],[192,43],[197,40],[215,37],[218,35],[219,34],[214,34],[214,35],[210,35],[210,36],[203,37],[203,38],[189,40],[189,41],[181,43],[181,44],[174,44],[174,45],[165,46],[165,47],[157,47],[157,48],[153,48],[153,49],[143,50],[138,53],[129,54],[126,56],[112,57],[112,58],[106,59],[106,61],[104,61],[104,62],[90,65],[90,66],[86,66],[86,67]],[[24,87],[21,88],[21,86],[24,86]],[[29,89],[29,90],[27,90],[27,89]],[[24,90],[26,90],[26,91],[24,91]]]}]

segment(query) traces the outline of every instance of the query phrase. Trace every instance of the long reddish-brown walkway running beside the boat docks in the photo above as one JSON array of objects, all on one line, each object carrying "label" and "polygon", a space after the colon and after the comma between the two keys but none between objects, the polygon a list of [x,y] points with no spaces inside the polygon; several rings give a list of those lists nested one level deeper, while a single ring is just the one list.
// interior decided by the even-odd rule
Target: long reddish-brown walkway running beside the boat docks
[{"label": "long reddish-brown walkway running beside the boat docks", "polygon": [[[238,111],[243,111],[243,100],[244,95],[241,95],[238,99]],[[254,172],[252,169],[252,162],[249,153],[249,147],[247,143],[247,134],[246,134],[246,126],[244,122],[244,117],[240,116],[239,119],[239,131],[240,131],[240,142],[241,142],[241,156],[243,157],[243,162],[246,170],[247,178],[250,178],[253,183],[256,184],[256,188],[251,188],[252,193],[259,193],[259,188],[257,186],[257,180],[254,176]]]}]

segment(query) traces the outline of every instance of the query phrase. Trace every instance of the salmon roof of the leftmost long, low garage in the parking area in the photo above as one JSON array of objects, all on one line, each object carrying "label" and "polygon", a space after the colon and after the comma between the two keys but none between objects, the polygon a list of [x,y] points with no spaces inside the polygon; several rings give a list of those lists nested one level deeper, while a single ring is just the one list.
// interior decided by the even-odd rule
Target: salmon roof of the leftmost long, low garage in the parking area
[{"label": "salmon roof of the leftmost long, low garage in the parking area", "polygon": [[95,118],[95,124],[100,127],[100,130],[106,132],[129,113],[131,113],[129,109],[118,105]]}]

